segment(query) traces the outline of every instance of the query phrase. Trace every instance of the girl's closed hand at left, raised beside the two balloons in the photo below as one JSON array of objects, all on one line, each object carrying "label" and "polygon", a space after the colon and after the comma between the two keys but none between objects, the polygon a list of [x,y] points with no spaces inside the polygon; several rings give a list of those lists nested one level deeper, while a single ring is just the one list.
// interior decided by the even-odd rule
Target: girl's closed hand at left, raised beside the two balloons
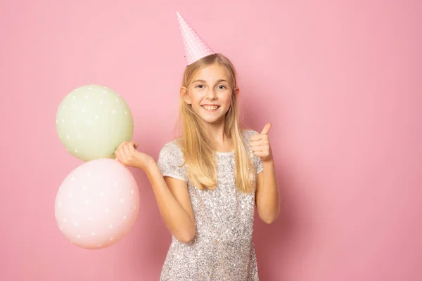
[{"label": "girl's closed hand at left, raised beside the two balloons", "polygon": [[155,161],[150,155],[136,150],[138,146],[138,143],[135,143],[134,141],[124,141],[117,147],[115,156],[117,161],[122,163],[124,166],[132,166],[146,172],[153,164],[155,164]]}]

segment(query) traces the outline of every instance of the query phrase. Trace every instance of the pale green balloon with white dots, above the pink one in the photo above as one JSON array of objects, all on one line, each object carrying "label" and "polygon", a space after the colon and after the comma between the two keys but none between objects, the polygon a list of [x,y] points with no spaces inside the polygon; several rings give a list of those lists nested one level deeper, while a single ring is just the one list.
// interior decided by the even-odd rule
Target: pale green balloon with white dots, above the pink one
[{"label": "pale green balloon with white dots, above the pink one", "polygon": [[60,103],[56,130],[61,143],[83,161],[115,158],[123,141],[134,132],[132,112],[127,103],[105,86],[81,86]]}]

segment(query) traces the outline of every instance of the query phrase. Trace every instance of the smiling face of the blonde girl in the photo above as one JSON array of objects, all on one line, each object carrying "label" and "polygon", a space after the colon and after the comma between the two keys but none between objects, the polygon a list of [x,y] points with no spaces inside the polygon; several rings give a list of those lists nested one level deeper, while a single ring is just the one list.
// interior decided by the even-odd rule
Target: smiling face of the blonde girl
[{"label": "smiling face of the blonde girl", "polygon": [[[186,93],[187,90],[187,93]],[[230,108],[232,86],[229,73],[218,64],[198,70],[188,89],[182,87],[184,101],[207,124],[224,122]]]}]

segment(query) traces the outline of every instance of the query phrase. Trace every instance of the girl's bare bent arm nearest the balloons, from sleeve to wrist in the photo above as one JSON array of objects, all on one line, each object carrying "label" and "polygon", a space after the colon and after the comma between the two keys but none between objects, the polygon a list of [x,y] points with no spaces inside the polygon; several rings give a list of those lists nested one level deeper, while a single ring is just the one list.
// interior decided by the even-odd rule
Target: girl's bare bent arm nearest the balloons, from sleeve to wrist
[{"label": "girl's bare bent arm nearest the balloons, from sleeve to wrist", "polygon": [[158,209],[167,228],[180,242],[191,242],[196,228],[186,181],[163,177],[155,162],[146,169],[146,176],[153,187]]}]

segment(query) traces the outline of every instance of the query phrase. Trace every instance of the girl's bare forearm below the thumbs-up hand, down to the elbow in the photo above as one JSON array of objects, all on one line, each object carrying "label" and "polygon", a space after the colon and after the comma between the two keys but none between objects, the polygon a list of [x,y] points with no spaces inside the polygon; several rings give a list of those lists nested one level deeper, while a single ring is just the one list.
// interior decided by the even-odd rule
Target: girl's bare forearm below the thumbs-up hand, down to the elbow
[{"label": "girl's bare forearm below the thumbs-up hand, down to the elbow", "polygon": [[261,220],[272,223],[280,213],[279,184],[274,161],[263,161],[262,166],[264,166],[264,171],[257,175],[255,203]]}]

